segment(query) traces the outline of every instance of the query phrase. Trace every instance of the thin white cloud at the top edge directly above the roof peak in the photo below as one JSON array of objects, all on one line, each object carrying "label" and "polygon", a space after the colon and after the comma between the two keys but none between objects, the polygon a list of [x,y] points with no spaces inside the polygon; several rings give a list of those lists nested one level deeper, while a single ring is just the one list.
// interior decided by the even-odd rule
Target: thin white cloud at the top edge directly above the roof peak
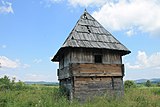
[{"label": "thin white cloud at the top edge directly above the roof peak", "polygon": [[102,6],[107,3],[108,0],[68,0],[69,4],[76,7],[90,7],[90,6]]}]

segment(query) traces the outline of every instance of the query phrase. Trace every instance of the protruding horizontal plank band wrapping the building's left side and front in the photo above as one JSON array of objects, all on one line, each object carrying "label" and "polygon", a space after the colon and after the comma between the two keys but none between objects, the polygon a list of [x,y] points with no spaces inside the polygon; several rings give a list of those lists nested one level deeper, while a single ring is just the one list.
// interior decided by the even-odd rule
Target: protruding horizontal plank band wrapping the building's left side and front
[{"label": "protruding horizontal plank band wrapping the building's left side and front", "polygon": [[72,76],[123,76],[123,64],[70,64],[58,70],[58,78],[64,79]]}]

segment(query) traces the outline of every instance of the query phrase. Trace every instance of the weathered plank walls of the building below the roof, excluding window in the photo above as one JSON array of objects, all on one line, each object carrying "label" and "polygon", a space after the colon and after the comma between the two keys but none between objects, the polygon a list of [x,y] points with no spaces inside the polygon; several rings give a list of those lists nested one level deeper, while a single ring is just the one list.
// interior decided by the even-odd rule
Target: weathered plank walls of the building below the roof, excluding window
[{"label": "weathered plank walls of the building below the roof, excluding window", "polygon": [[[102,64],[94,55],[102,55]],[[64,53],[59,62],[58,79],[70,98],[85,100],[104,93],[123,93],[124,65],[118,53],[73,49]]]}]

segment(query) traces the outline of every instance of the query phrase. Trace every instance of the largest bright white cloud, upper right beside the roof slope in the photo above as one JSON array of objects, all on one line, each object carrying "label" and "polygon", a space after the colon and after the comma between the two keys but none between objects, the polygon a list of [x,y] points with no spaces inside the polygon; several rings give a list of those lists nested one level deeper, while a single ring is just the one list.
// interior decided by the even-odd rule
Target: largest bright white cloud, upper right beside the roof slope
[{"label": "largest bright white cloud, upper right beside the roof slope", "polygon": [[[160,33],[159,0],[117,0],[108,2],[92,14],[107,29],[113,31],[137,28],[151,35]],[[128,34],[134,34],[129,31]]]}]

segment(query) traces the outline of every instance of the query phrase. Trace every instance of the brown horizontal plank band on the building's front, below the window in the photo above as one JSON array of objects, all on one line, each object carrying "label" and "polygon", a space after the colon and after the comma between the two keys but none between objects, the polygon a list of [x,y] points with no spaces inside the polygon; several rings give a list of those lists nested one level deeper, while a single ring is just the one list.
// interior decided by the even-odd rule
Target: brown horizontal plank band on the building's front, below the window
[{"label": "brown horizontal plank band on the building's front, below the window", "polygon": [[123,76],[122,64],[71,64],[73,76]]}]

